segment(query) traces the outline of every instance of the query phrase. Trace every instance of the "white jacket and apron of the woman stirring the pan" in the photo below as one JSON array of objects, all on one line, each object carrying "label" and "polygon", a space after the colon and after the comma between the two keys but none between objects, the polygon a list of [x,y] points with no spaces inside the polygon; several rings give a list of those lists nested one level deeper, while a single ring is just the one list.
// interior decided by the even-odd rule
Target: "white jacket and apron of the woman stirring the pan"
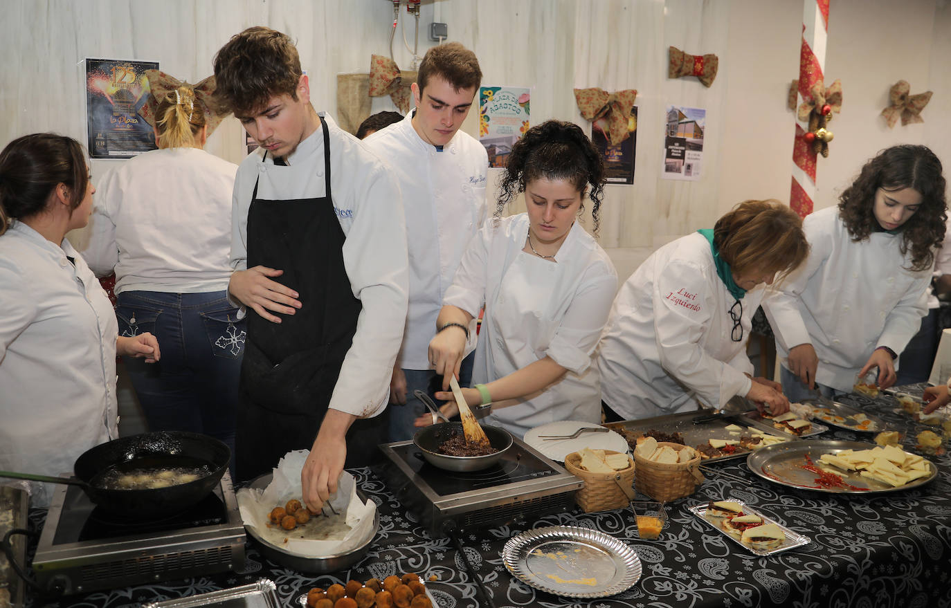
[{"label": "white jacket and apron of the woman stirring the pan", "polygon": [[557,263],[522,251],[528,230],[524,213],[497,225],[486,222],[443,300],[473,316],[485,305],[474,383],[496,380],[546,355],[568,370],[531,398],[493,404],[489,424],[518,436],[557,420],[601,421],[592,352],[617,290],[611,259],[580,224],[562,242]]}]

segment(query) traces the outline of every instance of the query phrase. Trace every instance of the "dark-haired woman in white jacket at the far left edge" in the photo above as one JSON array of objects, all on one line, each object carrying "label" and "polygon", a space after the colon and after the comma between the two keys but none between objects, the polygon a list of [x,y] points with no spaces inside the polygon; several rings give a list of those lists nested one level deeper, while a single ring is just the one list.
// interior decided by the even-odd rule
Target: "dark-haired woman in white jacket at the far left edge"
[{"label": "dark-haired woman in white jacket at the far left edge", "polygon": [[[66,238],[95,192],[83,148],[51,133],[0,152],[0,468],[57,476],[118,437],[116,353],[159,359],[155,337],[118,335],[112,304]],[[50,486],[32,485],[33,506]]]}]

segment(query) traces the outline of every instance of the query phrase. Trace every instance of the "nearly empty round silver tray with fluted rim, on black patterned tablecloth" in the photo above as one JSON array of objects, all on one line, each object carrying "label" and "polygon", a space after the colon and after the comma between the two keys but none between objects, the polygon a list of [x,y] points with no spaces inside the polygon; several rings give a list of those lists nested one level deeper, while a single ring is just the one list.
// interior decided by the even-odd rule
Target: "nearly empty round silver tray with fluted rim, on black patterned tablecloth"
[{"label": "nearly empty round silver tray with fluted rim, on black patterned tablecloth", "polygon": [[607,598],[641,578],[641,561],[630,545],[569,525],[522,532],[505,543],[502,561],[516,579],[564,598]]}]

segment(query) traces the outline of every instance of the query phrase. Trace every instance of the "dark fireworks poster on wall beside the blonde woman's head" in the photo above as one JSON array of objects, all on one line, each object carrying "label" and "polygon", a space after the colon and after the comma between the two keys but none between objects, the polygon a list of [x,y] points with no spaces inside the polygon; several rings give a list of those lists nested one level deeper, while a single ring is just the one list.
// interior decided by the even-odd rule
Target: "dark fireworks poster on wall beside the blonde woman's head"
[{"label": "dark fireworks poster on wall beside the blonde woman's head", "polygon": [[86,60],[86,129],[89,157],[130,159],[154,150],[152,126],[139,116],[148,97],[146,69],[155,61]]}]

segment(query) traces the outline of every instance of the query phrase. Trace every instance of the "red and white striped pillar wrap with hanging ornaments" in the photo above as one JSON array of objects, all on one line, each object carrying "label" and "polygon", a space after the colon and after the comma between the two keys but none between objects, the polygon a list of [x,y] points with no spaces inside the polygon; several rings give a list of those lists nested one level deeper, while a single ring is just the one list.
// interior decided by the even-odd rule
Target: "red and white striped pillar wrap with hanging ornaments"
[{"label": "red and white striped pillar wrap with hanging ornaments", "polygon": [[[828,36],[829,0],[805,0],[803,5],[803,44],[799,51],[799,92],[796,106],[812,98],[809,89],[823,80],[825,40]],[[812,213],[816,195],[816,152],[803,136],[808,121],[796,119],[796,140],[792,146],[792,191],[789,206],[801,217]]]}]

